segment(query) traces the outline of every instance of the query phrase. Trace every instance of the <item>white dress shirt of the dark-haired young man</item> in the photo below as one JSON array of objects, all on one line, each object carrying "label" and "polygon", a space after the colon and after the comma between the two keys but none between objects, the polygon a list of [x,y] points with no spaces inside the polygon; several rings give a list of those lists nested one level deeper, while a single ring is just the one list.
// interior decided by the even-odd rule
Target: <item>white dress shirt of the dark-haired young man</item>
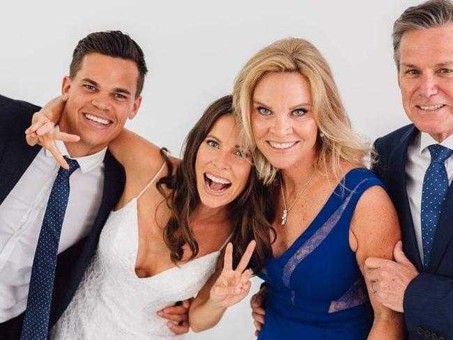
[{"label": "white dress shirt of the dark-haired young man", "polygon": [[[57,142],[57,146],[68,155],[63,142]],[[93,225],[102,199],[106,150],[74,158],[80,168],[69,180],[59,253],[84,238]],[[26,309],[33,257],[58,171],[59,164],[52,154],[41,149],[0,205],[0,323]]]}]

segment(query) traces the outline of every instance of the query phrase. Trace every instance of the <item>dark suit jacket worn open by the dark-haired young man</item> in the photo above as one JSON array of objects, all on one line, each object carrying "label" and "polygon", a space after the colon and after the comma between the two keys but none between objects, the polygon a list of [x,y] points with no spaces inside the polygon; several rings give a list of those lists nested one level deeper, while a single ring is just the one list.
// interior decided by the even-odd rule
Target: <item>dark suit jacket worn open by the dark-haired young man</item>
[{"label": "dark suit jacket worn open by the dark-haired young man", "polygon": [[[24,136],[26,127],[31,123],[31,115],[39,109],[28,102],[0,95],[0,204],[40,150],[40,146],[30,148]],[[84,240],[59,254],[49,329],[68,307],[98,245],[102,226],[123,192],[124,169],[108,150],[104,164],[102,202],[93,229]]]}]

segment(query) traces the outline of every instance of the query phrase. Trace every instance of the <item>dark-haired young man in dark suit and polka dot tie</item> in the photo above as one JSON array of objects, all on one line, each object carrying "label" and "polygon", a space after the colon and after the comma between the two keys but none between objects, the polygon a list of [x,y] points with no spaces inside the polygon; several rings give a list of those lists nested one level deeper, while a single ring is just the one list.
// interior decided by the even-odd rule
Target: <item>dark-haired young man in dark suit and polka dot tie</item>
[{"label": "dark-haired young man in dark suit and polka dot tie", "polygon": [[79,41],[62,85],[67,142],[57,147],[68,169],[26,145],[40,108],[0,95],[0,339],[47,339],[72,299],[123,192],[107,144],[137,114],[146,72],[141,48],[120,31]]}]

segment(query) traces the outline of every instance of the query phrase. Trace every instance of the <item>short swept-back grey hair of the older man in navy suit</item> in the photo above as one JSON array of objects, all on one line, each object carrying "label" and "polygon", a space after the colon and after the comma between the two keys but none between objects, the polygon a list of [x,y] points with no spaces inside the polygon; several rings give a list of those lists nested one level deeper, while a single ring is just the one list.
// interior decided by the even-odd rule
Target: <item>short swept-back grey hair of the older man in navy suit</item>
[{"label": "short swept-back grey hair of the older man in navy suit", "polygon": [[453,3],[450,0],[430,0],[409,7],[393,24],[393,59],[399,69],[399,45],[403,34],[413,29],[453,24]]}]

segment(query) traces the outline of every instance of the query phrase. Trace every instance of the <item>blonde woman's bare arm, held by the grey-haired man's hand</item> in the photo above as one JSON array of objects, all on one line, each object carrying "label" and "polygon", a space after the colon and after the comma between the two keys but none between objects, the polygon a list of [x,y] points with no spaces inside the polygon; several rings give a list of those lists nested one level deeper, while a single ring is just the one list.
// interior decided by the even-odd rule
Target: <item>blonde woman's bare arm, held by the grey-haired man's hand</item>
[{"label": "blonde woman's bare arm, held by the grey-haired man's hand", "polygon": [[[394,245],[401,239],[397,212],[382,187],[369,188],[358,202],[351,221],[351,248],[365,276],[365,259],[369,256],[392,259]],[[378,302],[366,279],[367,290],[374,310],[374,323],[369,340],[404,339],[403,316]]]}]

